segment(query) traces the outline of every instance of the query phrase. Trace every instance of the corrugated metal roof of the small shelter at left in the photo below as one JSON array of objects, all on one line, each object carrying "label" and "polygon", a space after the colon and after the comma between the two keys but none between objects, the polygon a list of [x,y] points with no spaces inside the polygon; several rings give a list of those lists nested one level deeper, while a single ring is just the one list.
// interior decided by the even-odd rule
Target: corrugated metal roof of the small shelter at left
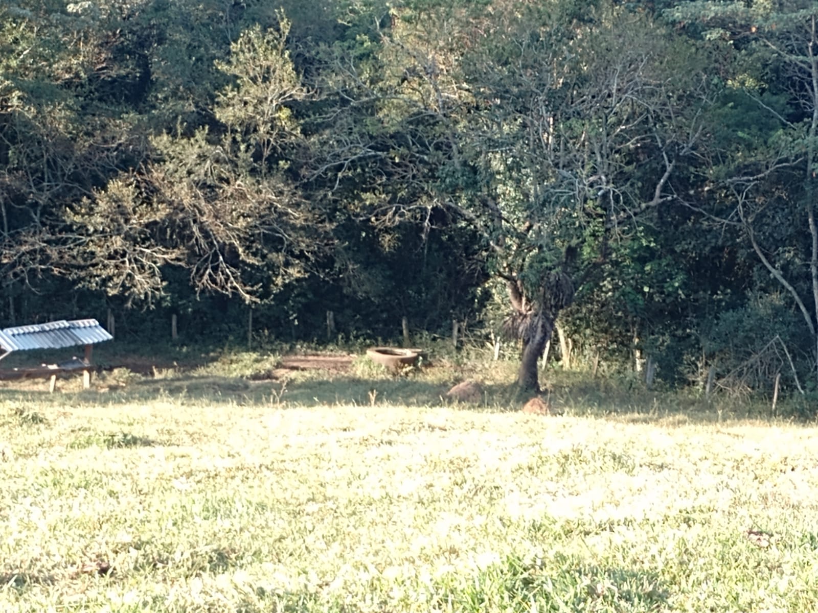
[{"label": "corrugated metal roof of the small shelter at left", "polygon": [[47,324],[19,325],[0,330],[0,347],[5,351],[60,349],[92,345],[112,337],[97,320],[59,320]]}]

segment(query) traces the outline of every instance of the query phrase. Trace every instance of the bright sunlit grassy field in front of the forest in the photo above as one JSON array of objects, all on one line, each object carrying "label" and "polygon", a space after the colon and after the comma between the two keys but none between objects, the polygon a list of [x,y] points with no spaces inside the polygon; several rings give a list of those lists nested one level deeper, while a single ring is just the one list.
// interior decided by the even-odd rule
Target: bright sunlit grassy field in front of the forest
[{"label": "bright sunlit grassy field in front of the forest", "polygon": [[810,424],[246,360],[0,388],[0,611],[818,611]]}]

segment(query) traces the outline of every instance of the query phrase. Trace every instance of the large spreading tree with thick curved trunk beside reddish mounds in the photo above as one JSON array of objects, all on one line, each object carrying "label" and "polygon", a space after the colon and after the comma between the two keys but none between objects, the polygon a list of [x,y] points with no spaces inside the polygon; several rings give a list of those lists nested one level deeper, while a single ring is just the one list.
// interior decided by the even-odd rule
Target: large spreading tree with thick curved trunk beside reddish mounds
[{"label": "large spreading tree with thick curved trunk beside reddish mounds", "polygon": [[[706,101],[684,42],[607,2],[583,9],[394,9],[367,63],[349,71],[355,93],[336,107],[348,128],[320,169],[339,171],[338,185],[372,177],[371,214],[439,206],[479,230],[523,338],[527,389],[538,387],[537,360],[587,267],[676,198]],[[353,119],[362,110],[374,119]]]}]

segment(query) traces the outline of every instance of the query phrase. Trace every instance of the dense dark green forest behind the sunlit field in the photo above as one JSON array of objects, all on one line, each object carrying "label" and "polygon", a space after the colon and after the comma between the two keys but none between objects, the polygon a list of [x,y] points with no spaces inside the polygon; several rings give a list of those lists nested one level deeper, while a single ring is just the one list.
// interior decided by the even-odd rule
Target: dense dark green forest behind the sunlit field
[{"label": "dense dark green forest behind the sunlit field", "polygon": [[0,327],[806,396],[816,131],[814,0],[6,0]]}]

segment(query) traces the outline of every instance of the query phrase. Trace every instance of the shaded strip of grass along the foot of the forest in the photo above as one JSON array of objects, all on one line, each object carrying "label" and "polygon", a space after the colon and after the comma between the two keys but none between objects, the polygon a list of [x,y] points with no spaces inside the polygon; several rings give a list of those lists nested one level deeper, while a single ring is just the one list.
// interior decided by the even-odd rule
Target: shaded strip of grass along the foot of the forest
[{"label": "shaded strip of grass along the foot of the forest", "polygon": [[[277,371],[276,371],[277,372]],[[456,405],[465,410],[516,411],[533,394],[521,393],[514,381],[483,383],[483,396],[472,403],[456,402],[446,393],[452,381],[463,373],[444,369],[392,376],[384,373],[339,373],[321,370],[292,370],[266,379],[216,376],[173,371],[160,376],[125,372],[100,376],[92,388],[65,388],[55,394],[39,387],[34,390],[0,388],[0,407],[25,413],[25,406],[37,405],[38,414],[49,405],[63,408],[66,400],[79,402],[173,402],[258,405],[286,409],[319,406],[441,406]],[[475,373],[480,379],[480,373]],[[489,378],[489,377],[487,377]],[[489,380],[491,380],[489,378]],[[571,417],[614,418],[631,423],[726,423],[747,419],[766,421],[770,407],[763,401],[737,402],[717,399],[708,402],[684,391],[646,390],[624,378],[591,378],[587,375],[549,374],[542,398],[551,414]],[[784,406],[784,403],[780,403]],[[23,409],[20,409],[23,406]]]}]

